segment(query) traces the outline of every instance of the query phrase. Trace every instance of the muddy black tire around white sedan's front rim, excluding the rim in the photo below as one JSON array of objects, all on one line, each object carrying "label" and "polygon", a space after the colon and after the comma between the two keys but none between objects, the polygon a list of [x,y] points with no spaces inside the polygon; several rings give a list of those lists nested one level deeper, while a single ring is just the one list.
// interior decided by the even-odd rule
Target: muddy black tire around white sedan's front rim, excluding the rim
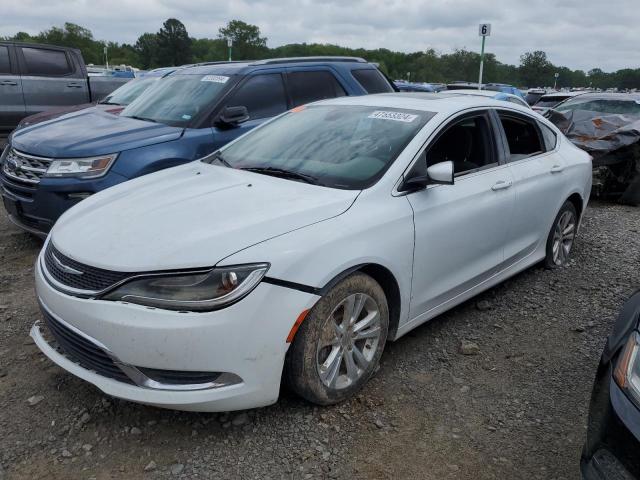
[{"label": "muddy black tire around white sedan's front rim, excluding the rim", "polygon": [[[316,348],[322,327],[333,309],[349,295],[365,293],[377,303],[382,329],[378,350],[364,374],[349,387],[334,390],[320,380]],[[331,405],[353,396],[375,372],[389,330],[389,307],[382,287],[370,276],[356,272],[336,284],[311,309],[296,333],[285,359],[284,379],[298,395],[319,405]]]}]

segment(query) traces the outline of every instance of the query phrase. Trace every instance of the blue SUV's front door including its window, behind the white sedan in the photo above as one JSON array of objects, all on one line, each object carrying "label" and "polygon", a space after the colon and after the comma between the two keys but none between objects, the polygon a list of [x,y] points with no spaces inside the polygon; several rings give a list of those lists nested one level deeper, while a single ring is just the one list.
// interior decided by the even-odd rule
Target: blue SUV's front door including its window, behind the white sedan
[{"label": "blue SUV's front door including its window, behind the white sedan", "polygon": [[258,72],[247,76],[222,102],[225,107],[247,107],[249,120],[232,128],[214,127],[213,150],[238,138],[289,108],[282,73]]}]

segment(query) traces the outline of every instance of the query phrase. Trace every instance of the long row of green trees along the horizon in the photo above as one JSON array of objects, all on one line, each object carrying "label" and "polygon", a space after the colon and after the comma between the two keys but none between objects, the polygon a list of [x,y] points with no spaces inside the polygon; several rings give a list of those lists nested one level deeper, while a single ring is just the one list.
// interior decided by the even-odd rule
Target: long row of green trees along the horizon
[{"label": "long row of green trees along the horizon", "polygon": [[[367,50],[339,45],[293,43],[280,47],[267,46],[260,28],[241,20],[232,20],[218,30],[216,38],[190,37],[184,24],[175,18],[164,22],[156,33],[143,33],[135,44],[96,40],[91,30],[74,23],[52,27],[37,35],[18,32],[4,40],[45,43],[79,48],[87,63],[104,64],[107,47],[109,63],[133,65],[142,69],[184,65],[188,63],[228,59],[227,39],[233,41],[234,60],[273,57],[347,55],[363,57],[379,64],[382,71],[394,79],[416,82],[447,83],[456,80],[475,81],[478,77],[480,54],[466,49],[438,53],[434,49],[413,53],[394,52],[385,48]],[[526,87],[557,86],[594,88],[640,88],[640,68],[604,72],[594,68],[585,72],[551,63],[543,51],[524,53],[519,65],[498,61],[492,53],[485,54],[486,82],[502,82]]]}]

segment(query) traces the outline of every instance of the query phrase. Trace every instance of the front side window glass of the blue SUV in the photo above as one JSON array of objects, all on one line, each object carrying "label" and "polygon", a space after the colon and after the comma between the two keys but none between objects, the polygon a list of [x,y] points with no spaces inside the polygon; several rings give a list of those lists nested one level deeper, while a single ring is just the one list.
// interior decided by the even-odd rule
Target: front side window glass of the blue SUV
[{"label": "front side window glass of the blue SUV", "polygon": [[245,106],[252,120],[268,118],[287,110],[282,75],[255,75],[242,84],[227,102],[228,107]]}]

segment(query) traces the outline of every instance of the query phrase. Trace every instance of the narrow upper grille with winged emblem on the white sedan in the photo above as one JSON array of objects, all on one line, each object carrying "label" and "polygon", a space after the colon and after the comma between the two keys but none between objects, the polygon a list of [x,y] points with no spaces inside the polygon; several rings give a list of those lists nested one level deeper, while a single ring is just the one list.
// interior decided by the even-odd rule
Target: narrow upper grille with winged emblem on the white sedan
[{"label": "narrow upper grille with winged emblem on the white sedan", "polygon": [[[73,289],[91,292],[100,292],[134,275],[104,270],[77,262],[60,253],[52,242],[47,245],[44,263],[47,267],[47,273],[58,283]],[[81,273],[70,273],[71,271]]]}]

